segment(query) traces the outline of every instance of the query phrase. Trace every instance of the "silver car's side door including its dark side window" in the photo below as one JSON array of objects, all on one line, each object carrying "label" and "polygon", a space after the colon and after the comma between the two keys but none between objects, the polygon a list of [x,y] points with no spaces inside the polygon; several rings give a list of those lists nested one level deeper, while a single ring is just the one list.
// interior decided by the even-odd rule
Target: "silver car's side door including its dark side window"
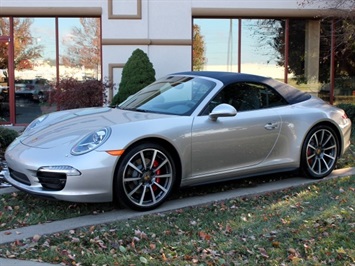
[{"label": "silver car's side door including its dark side window", "polygon": [[[213,98],[206,107],[207,112],[195,118],[192,126],[193,177],[234,172],[257,166],[267,158],[281,129],[281,117],[269,108],[272,99],[269,90],[259,84],[230,85]],[[220,103],[234,106],[237,115],[211,120],[207,113]]]}]

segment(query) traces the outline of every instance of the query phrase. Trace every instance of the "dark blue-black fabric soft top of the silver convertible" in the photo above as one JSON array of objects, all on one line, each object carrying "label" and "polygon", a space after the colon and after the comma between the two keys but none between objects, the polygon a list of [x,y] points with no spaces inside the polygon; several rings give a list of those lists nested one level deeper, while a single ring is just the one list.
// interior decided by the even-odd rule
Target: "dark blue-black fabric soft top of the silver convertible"
[{"label": "dark blue-black fabric soft top of the silver convertible", "polygon": [[186,71],[175,73],[173,75],[209,77],[221,81],[225,86],[235,82],[262,83],[274,88],[289,104],[303,102],[312,97],[309,93],[300,91],[286,83],[252,74],[223,71]]}]

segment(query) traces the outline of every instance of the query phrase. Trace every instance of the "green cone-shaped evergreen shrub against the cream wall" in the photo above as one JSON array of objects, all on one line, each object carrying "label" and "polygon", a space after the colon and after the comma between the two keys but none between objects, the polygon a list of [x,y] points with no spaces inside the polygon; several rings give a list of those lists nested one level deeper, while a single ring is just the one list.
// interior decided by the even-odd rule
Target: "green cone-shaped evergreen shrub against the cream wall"
[{"label": "green cone-shaped evergreen shrub against the cream wall", "polygon": [[122,69],[118,93],[112,99],[112,106],[120,104],[130,95],[155,81],[155,70],[148,55],[136,49]]}]

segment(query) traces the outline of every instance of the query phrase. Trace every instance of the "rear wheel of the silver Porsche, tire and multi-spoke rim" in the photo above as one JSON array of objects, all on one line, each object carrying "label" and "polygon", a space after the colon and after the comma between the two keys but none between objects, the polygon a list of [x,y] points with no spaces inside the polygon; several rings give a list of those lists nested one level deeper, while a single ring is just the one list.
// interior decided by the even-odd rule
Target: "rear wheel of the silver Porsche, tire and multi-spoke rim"
[{"label": "rear wheel of the silver Porsche, tire and multi-spoke rim", "polygon": [[301,155],[301,170],[309,178],[328,176],[338,160],[339,141],[332,128],[325,125],[314,127],[307,135]]}]

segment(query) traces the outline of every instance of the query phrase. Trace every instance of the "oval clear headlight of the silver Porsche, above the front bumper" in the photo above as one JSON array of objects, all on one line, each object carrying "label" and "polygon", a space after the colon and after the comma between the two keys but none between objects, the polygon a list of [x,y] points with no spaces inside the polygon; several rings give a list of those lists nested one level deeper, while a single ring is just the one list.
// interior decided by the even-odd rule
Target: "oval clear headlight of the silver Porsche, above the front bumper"
[{"label": "oval clear headlight of the silver Porsche, above the front bumper", "polygon": [[110,137],[111,128],[105,127],[82,138],[74,147],[71,149],[72,155],[81,155],[90,152],[103,143]]}]

